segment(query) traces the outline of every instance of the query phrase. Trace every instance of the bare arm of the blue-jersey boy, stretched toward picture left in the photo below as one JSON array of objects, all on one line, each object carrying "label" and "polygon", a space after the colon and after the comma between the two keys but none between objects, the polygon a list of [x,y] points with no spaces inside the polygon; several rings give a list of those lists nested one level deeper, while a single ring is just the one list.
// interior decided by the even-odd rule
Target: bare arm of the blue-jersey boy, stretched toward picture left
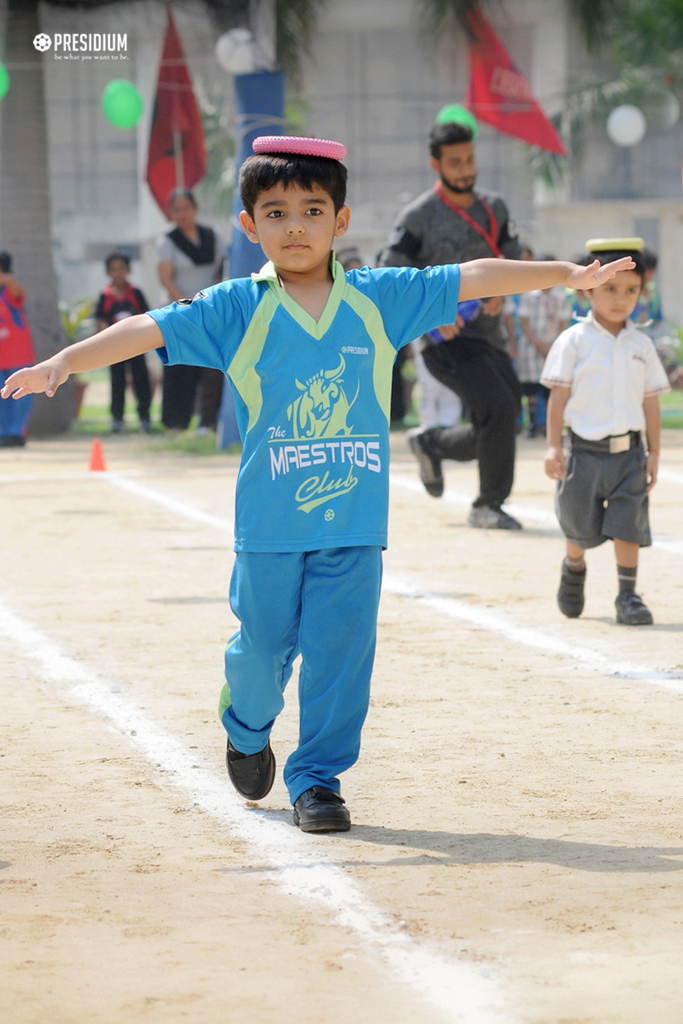
[{"label": "bare arm of the blue-jersey boy, stretched toward picture left", "polygon": [[92,338],[62,348],[44,362],[17,370],[7,378],[0,394],[3,398],[9,398],[10,395],[12,398],[23,398],[25,394],[44,391],[51,398],[70,374],[110,367],[114,362],[131,359],[134,355],[142,355],[152,348],[161,348],[163,344],[161,328],[152,316],[146,313],[128,316]]}]

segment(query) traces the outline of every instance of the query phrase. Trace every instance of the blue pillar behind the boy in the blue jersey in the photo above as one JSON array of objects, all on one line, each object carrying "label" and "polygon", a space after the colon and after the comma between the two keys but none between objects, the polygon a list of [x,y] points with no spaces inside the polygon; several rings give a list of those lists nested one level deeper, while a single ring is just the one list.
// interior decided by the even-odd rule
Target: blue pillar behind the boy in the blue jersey
[{"label": "blue pillar behind the boy in the blue jersey", "polygon": [[[282,135],[285,123],[285,76],[281,72],[255,72],[253,75],[234,76],[234,95],[238,109],[238,158],[240,167],[253,153],[252,143],[259,135]],[[234,189],[232,203],[232,240],[228,248],[228,276],[248,278],[260,270],[266,262],[263,250],[245,234],[240,223],[243,209],[240,191]],[[225,449],[240,440],[234,415],[232,390],[223,388],[223,400],[218,415],[216,443]]]}]

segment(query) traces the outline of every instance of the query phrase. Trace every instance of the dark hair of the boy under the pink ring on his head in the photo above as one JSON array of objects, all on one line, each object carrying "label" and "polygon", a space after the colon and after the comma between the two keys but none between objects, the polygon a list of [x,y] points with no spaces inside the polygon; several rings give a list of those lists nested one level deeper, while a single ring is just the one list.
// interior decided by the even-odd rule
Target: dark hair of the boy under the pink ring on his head
[{"label": "dark hair of the boy under the pink ring on his head", "polygon": [[262,191],[282,184],[299,185],[306,191],[313,191],[319,185],[335,206],[338,213],[346,202],[346,179],[348,171],[338,160],[329,157],[304,157],[296,153],[263,153],[248,157],[240,168],[240,196],[242,205],[250,217]]}]

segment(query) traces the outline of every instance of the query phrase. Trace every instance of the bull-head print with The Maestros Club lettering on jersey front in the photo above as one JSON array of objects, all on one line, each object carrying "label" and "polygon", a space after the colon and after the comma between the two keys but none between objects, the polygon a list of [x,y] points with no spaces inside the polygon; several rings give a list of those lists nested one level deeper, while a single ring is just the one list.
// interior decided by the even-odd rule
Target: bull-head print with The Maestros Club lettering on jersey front
[{"label": "bull-head print with The Maestros Club lettering on jersey front", "polygon": [[379,434],[354,434],[348,422],[360,384],[349,401],[343,386],[345,370],[340,355],[334,369],[321,370],[304,383],[295,380],[300,393],[287,408],[291,435],[286,436],[290,430],[282,427],[268,428],[272,480],[315,467],[294,496],[300,512],[347,495],[358,482],[356,470],[379,473],[382,469]]}]

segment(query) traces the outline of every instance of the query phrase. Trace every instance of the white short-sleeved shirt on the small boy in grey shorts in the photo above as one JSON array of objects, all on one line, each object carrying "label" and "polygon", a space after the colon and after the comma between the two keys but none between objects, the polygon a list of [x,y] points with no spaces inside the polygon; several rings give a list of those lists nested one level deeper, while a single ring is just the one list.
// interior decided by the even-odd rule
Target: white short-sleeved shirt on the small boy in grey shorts
[{"label": "white short-sleeved shirt on the small boy in grey shorts", "polygon": [[671,390],[647,335],[628,319],[614,337],[592,311],[559,336],[541,383],[571,388],[564,422],[590,441],[644,430],[643,399]]}]

